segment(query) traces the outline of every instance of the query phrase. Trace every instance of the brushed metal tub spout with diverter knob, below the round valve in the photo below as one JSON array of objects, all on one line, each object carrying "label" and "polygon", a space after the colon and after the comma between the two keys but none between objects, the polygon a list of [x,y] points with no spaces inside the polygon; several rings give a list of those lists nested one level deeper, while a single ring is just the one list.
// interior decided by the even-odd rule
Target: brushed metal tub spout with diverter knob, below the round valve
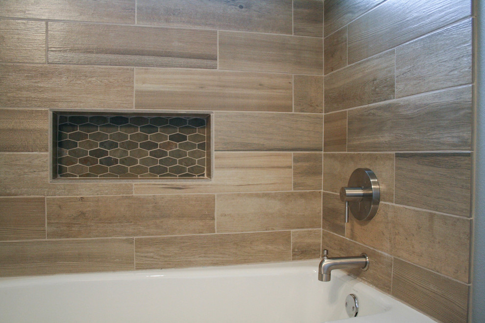
[{"label": "brushed metal tub spout with diverter knob, below the round valve", "polygon": [[323,251],[323,259],[318,266],[318,280],[330,281],[330,273],[334,269],[369,268],[369,257],[366,254],[351,257],[329,257],[328,250]]}]

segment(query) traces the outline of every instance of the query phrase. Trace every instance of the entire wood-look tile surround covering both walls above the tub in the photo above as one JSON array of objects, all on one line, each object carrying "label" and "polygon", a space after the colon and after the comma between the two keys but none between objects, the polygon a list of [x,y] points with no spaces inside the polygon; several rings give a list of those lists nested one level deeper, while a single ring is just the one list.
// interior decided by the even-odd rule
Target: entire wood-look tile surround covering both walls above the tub
[{"label": "entire wood-look tile surround covering both walls above the tub", "polygon": [[[466,322],[471,0],[195,2],[0,2],[0,276],[324,247],[367,253],[352,275]],[[50,108],[213,111],[213,179],[51,182]],[[358,167],[382,204],[345,225]]]}]

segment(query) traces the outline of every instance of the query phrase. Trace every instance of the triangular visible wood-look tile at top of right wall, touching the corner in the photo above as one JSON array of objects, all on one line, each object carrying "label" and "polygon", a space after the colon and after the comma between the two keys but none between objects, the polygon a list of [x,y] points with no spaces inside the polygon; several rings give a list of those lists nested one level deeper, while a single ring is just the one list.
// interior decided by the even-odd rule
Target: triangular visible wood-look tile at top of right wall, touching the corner
[{"label": "triangular visible wood-look tile at top of right wall, touching the corner", "polygon": [[350,23],[384,0],[324,0],[325,37]]}]

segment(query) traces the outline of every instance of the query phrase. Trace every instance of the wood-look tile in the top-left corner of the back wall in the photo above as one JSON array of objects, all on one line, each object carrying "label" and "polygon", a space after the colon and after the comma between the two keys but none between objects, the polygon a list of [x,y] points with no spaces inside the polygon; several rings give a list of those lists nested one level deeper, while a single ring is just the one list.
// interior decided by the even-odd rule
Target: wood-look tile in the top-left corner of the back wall
[{"label": "wood-look tile in the top-left corner of the back wall", "polygon": [[133,0],[22,0],[1,1],[2,17],[134,23]]}]

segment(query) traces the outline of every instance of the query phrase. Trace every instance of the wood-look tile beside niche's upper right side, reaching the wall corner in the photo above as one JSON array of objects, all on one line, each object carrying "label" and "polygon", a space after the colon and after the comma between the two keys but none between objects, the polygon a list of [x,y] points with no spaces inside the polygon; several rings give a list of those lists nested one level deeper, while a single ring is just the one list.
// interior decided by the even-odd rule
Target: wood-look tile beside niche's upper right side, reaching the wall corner
[{"label": "wood-look tile beside niche's upper right side, reaching the wall corner", "polygon": [[217,112],[216,151],[322,151],[323,115]]}]

